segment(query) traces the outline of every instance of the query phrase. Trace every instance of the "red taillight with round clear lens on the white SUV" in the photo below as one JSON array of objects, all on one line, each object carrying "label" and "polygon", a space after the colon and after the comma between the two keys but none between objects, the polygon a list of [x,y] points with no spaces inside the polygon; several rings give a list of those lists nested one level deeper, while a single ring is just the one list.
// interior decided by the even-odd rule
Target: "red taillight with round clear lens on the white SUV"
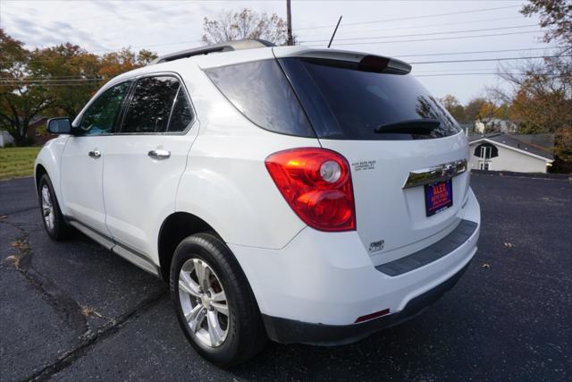
[{"label": "red taillight with round clear lens on the white SUV", "polygon": [[328,149],[290,149],[265,160],[290,207],[320,231],[356,229],[354,192],[345,157]]}]

